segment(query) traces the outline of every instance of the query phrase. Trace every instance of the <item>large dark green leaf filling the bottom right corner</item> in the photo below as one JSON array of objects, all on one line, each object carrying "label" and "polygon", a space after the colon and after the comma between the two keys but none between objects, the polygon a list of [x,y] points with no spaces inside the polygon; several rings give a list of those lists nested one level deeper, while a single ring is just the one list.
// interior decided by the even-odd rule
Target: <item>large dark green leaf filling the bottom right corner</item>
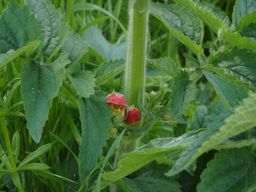
[{"label": "large dark green leaf filling the bottom right corner", "polygon": [[[241,192],[256,189],[255,156],[249,148],[221,150],[207,163],[198,192]],[[221,169],[220,169],[221,167]]]}]

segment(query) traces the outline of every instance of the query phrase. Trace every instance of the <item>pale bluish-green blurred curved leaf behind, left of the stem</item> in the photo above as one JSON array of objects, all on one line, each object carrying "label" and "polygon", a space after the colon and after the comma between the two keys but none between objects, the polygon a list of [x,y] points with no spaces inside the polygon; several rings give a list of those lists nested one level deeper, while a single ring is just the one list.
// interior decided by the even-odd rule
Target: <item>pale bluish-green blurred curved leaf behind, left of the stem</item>
[{"label": "pale bluish-green blurred curved leaf behind, left of the stem", "polygon": [[100,60],[124,59],[126,53],[126,43],[111,44],[102,35],[98,26],[94,25],[82,33],[85,43]]}]

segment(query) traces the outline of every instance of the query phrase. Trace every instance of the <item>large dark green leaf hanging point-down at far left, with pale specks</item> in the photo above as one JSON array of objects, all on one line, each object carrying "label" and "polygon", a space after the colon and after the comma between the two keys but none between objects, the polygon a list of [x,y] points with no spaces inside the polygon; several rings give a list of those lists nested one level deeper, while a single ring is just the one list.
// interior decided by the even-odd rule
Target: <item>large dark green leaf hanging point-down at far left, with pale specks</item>
[{"label": "large dark green leaf hanging point-down at far left, with pale specks", "polygon": [[[61,65],[63,63],[58,66]],[[58,95],[63,75],[58,70],[52,70],[51,65],[47,67],[36,62],[28,62],[23,68],[21,97],[25,105],[27,129],[36,142],[41,139],[52,99]]]}]

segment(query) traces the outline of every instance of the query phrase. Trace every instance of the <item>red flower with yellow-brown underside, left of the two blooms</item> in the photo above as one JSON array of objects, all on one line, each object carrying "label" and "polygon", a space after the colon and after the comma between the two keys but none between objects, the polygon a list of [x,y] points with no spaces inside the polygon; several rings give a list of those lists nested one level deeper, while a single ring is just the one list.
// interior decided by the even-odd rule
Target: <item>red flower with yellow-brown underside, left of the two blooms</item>
[{"label": "red flower with yellow-brown underside, left of the two blooms", "polygon": [[114,115],[124,116],[124,107],[129,107],[125,101],[124,95],[112,93],[109,94],[107,98],[106,102],[109,103],[108,106]]}]

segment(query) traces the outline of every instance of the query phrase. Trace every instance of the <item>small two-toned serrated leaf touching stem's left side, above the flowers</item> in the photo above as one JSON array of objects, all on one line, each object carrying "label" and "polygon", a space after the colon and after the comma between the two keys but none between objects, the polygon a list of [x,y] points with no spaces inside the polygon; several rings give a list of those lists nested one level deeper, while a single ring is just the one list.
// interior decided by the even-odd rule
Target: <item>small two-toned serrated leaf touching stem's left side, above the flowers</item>
[{"label": "small two-toned serrated leaf touching stem's left side, above the flowers", "polygon": [[111,78],[114,78],[119,73],[122,73],[125,68],[125,60],[110,60],[103,62],[96,71],[96,84],[103,85]]}]

